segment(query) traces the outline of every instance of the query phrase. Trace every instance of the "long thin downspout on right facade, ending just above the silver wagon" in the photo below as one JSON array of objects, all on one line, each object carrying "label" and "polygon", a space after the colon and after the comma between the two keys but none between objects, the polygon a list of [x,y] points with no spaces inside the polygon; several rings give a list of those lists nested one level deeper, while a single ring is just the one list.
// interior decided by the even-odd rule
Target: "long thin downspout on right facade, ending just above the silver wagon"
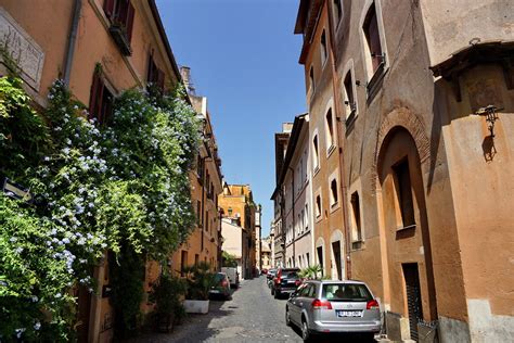
[{"label": "long thin downspout on right facade, ending just above the silver wagon", "polygon": [[345,158],[344,158],[344,149],[343,149],[343,143],[345,142],[344,140],[344,132],[343,132],[343,125],[342,125],[342,119],[338,114],[339,112],[339,93],[337,88],[337,72],[336,72],[336,65],[335,65],[335,27],[334,27],[334,21],[332,16],[332,8],[331,5],[327,4],[327,16],[329,16],[329,27],[331,28],[331,40],[330,40],[330,54],[331,54],[331,66],[332,66],[332,88],[334,90],[334,112],[335,112],[335,117],[336,117],[336,123],[339,123],[336,125],[337,127],[337,139],[338,139],[338,144],[339,144],[339,180],[340,180],[340,192],[342,192],[342,202],[340,205],[343,207],[343,223],[345,226],[345,263],[346,263],[346,278],[351,279],[351,259],[350,259],[350,250],[351,250],[351,244],[350,244],[350,233],[349,233],[349,223],[348,223],[348,208],[347,208],[347,187],[346,187],[346,180],[345,180]]}]

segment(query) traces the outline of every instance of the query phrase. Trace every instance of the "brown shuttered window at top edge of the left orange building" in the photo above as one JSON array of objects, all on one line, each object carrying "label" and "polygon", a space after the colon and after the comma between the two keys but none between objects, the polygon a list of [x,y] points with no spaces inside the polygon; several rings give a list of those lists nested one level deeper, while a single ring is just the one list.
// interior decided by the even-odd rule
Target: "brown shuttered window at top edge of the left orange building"
[{"label": "brown shuttered window at top edge of the left orange building", "polygon": [[125,55],[132,54],[130,41],[132,39],[134,9],[130,0],[105,0],[103,10],[111,21],[108,31],[116,45]]}]

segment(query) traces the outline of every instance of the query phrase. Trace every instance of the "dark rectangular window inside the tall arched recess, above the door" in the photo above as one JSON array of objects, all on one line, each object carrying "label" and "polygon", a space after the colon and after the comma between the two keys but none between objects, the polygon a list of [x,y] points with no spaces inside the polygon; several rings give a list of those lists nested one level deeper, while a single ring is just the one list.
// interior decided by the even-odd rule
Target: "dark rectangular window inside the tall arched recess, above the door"
[{"label": "dark rectangular window inside the tall arched recess, above the door", "polygon": [[393,167],[396,176],[397,203],[401,214],[403,228],[415,225],[414,206],[412,202],[411,178],[409,174],[409,160],[404,158]]}]

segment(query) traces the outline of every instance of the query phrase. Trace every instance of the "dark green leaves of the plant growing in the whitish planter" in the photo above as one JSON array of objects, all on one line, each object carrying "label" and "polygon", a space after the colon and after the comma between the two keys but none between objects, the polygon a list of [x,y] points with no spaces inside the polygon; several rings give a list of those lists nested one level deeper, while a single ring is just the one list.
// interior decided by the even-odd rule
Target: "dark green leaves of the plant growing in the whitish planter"
[{"label": "dark green leaves of the plant growing in the whitish planter", "polygon": [[185,298],[208,300],[209,290],[216,283],[216,274],[210,270],[210,265],[201,262],[197,265],[187,266],[183,271],[188,281]]}]

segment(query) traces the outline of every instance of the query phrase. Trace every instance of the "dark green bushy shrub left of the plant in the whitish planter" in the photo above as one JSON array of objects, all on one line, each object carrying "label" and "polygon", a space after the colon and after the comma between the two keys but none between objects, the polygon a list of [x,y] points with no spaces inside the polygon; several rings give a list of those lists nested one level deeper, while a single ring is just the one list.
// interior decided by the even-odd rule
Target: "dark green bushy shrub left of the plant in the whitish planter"
[{"label": "dark green bushy shrub left of the plant in the whitish planter", "polygon": [[155,304],[153,319],[155,330],[169,332],[174,325],[180,323],[184,315],[182,298],[188,290],[185,280],[162,274],[152,284],[149,301]]}]

